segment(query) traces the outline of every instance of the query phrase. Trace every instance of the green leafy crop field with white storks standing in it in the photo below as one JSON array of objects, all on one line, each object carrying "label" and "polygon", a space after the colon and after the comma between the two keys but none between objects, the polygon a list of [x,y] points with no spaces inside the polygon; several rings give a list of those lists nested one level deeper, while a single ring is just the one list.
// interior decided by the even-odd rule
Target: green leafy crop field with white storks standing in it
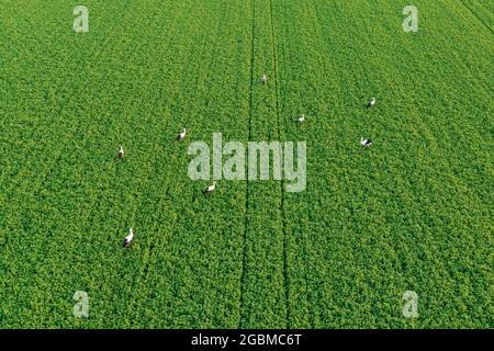
[{"label": "green leafy crop field with white storks standing in it", "polygon": [[[0,328],[493,328],[493,29],[491,0],[2,0]],[[203,194],[214,133],[305,141],[305,189]]]}]

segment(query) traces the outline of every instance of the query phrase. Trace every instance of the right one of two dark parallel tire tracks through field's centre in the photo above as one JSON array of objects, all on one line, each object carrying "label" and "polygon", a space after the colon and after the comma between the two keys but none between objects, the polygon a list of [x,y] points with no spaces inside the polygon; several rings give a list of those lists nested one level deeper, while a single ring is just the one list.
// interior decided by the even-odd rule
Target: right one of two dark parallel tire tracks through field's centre
[{"label": "right one of two dark parallel tire tracks through field's centre", "polygon": [[[272,53],[273,53],[273,63],[274,63],[274,92],[276,92],[276,105],[277,105],[277,126],[278,126],[278,140],[281,143],[281,110],[280,110],[280,87],[279,87],[279,69],[278,69],[278,50],[276,43],[276,33],[274,33],[274,16],[273,16],[273,0],[269,0],[270,5],[270,26],[271,26],[271,44],[272,44]],[[280,204],[280,213],[281,213],[281,223],[282,228],[281,233],[283,234],[283,282],[284,282],[284,298],[285,298],[285,310],[287,310],[287,328],[290,328],[290,309],[289,309],[289,278],[288,278],[288,239],[287,239],[287,215],[284,211],[284,180],[282,179],[280,182],[280,195],[281,195],[281,204]]]}]

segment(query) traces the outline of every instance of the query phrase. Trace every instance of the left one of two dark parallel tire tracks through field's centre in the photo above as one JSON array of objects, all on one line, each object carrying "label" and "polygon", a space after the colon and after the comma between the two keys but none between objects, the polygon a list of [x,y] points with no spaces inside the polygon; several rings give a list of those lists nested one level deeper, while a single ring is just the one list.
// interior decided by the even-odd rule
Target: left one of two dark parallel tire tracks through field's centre
[{"label": "left one of two dark parallel tire tracks through field's centre", "polygon": [[[255,48],[255,30],[256,30],[256,0],[252,0],[252,29],[251,29],[251,47],[250,47],[250,95],[249,95],[249,122],[248,122],[248,141],[250,141],[252,133],[252,103],[254,103],[254,88],[255,88],[255,77],[254,77],[254,48]],[[244,290],[245,290],[245,279],[246,279],[246,267],[247,267],[247,228],[249,223],[249,180],[246,180],[246,192],[245,192],[245,226],[244,226],[244,261],[242,265],[242,279],[240,279],[240,319],[238,322],[239,328],[243,326],[244,320]]]}]

